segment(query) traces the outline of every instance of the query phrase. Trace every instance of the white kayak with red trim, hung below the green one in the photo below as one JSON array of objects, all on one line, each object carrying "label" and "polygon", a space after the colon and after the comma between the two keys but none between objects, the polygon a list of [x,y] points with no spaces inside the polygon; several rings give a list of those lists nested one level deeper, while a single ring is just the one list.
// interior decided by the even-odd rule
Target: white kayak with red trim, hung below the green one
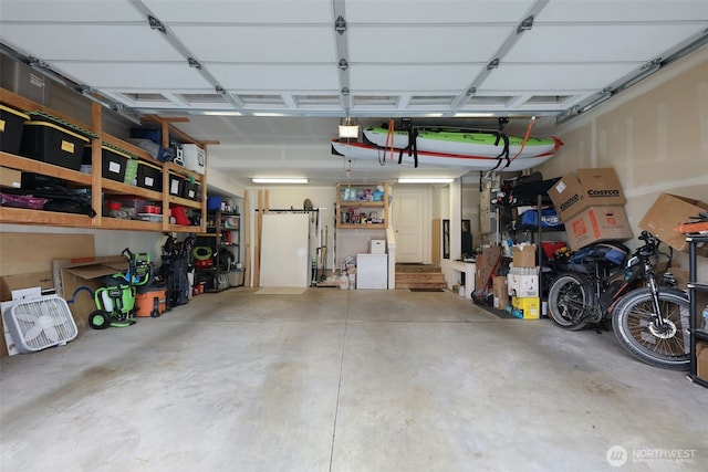
[{"label": "white kayak with red trim, hung below the green one", "polygon": [[[561,145],[559,140],[559,146]],[[332,154],[336,156],[344,156],[355,159],[372,159],[398,162],[400,156],[400,149],[394,149],[393,156],[391,149],[387,151],[383,147],[366,143],[347,143],[346,140],[332,139]],[[510,161],[507,165],[506,158],[497,158],[490,156],[472,156],[472,155],[458,155],[449,153],[431,153],[426,150],[418,150],[418,167],[458,167],[470,170],[496,170],[496,171],[516,171],[529,169],[531,167],[540,166],[555,155],[555,150],[552,149],[548,153],[543,153],[538,156],[519,157]],[[512,155],[513,157],[513,155]],[[403,151],[403,165],[414,166],[415,160],[413,156],[408,155],[407,150]]]}]

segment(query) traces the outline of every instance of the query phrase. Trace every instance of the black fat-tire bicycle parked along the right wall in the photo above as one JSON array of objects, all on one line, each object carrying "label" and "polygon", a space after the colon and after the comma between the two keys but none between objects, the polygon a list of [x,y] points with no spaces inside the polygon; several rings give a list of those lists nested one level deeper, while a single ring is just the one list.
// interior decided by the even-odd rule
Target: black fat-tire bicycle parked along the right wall
[{"label": "black fat-tire bicycle parked along the right wall", "polygon": [[[643,231],[644,244],[624,263],[589,258],[587,273],[566,272],[549,289],[549,314],[559,326],[577,331],[612,319],[621,345],[655,367],[686,370],[689,366],[688,295],[676,289],[670,273],[657,281],[653,259],[660,241]],[[671,256],[668,254],[668,264]]]}]

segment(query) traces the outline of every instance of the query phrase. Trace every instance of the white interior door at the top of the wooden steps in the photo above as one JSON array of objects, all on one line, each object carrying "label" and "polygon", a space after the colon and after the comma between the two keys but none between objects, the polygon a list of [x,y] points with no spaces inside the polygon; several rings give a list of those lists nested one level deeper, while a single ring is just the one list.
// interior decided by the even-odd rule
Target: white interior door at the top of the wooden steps
[{"label": "white interior door at the top of the wooden steps", "polygon": [[421,190],[398,189],[392,204],[396,233],[396,262],[421,263],[425,229],[425,206]]}]

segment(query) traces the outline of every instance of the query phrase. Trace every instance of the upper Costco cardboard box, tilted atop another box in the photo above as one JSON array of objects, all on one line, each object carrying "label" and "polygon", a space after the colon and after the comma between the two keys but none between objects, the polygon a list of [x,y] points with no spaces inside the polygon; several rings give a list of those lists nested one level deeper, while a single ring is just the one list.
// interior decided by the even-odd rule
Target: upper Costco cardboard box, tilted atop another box
[{"label": "upper Costco cardboard box, tilted atop another box", "polygon": [[613,168],[579,169],[577,176],[569,172],[548,193],[563,222],[589,207],[626,202]]}]

